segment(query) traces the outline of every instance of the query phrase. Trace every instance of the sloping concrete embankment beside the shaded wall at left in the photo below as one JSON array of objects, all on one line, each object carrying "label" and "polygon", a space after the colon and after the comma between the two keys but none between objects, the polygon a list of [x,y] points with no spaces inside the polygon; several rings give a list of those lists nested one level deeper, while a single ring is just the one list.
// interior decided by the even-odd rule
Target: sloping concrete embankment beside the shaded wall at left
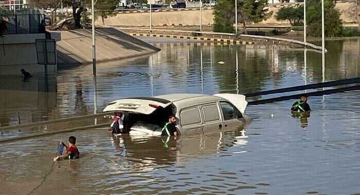
[{"label": "sloping concrete embankment beside the shaded wall at left", "polygon": [[[58,67],[91,64],[91,29],[60,31],[57,44]],[[160,49],[114,28],[96,29],[97,62],[129,59],[159,51]]]}]

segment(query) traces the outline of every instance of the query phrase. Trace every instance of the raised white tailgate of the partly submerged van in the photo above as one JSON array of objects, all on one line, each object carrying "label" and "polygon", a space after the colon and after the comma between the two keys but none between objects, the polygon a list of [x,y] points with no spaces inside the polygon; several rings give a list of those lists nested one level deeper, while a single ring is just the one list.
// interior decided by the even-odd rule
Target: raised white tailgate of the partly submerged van
[{"label": "raised white tailgate of the partly submerged van", "polygon": [[103,112],[127,111],[141,114],[151,114],[160,107],[167,107],[172,102],[156,97],[132,97],[129,99],[115,100],[107,105]]}]

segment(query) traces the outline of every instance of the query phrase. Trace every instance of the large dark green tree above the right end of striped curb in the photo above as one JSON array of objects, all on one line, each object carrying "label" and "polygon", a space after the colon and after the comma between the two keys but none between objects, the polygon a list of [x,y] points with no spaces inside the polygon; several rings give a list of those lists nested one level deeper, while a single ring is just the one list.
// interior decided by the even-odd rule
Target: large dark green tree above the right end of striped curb
[{"label": "large dark green tree above the right end of striped curb", "polygon": [[[273,14],[265,6],[267,0],[238,0],[238,21],[243,24],[245,34],[246,23],[259,23]],[[214,6],[213,15],[215,32],[233,32],[235,1],[219,0]]]}]

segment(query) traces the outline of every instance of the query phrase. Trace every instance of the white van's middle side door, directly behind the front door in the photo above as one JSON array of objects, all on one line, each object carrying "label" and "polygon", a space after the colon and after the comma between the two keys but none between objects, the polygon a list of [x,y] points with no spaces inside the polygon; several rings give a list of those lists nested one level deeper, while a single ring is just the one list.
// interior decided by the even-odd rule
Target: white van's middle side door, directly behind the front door
[{"label": "white van's middle side door, directly behind the front door", "polygon": [[219,132],[223,129],[221,111],[217,102],[201,105],[203,121],[205,122],[205,132]]}]

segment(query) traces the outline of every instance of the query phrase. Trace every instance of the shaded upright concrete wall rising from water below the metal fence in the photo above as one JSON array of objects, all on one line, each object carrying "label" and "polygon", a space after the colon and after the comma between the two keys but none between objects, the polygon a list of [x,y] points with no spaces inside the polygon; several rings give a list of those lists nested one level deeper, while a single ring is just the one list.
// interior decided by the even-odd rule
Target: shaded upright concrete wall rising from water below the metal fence
[{"label": "shaded upright concrete wall rising from water below the metal fence", "polygon": [[[59,39],[56,33],[53,35]],[[24,68],[31,74],[44,74],[44,65],[38,65],[35,40],[45,34],[8,34],[0,37],[0,75],[20,75]],[[48,65],[48,73],[56,73],[56,65]]]}]

